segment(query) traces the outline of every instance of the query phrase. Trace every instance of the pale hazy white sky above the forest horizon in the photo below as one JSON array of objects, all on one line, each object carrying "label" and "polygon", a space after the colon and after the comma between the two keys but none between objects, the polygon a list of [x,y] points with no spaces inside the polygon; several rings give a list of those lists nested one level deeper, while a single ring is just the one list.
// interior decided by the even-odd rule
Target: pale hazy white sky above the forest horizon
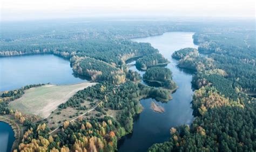
[{"label": "pale hazy white sky above the forest horizon", "polygon": [[1,0],[1,21],[80,17],[255,18],[255,0]]}]

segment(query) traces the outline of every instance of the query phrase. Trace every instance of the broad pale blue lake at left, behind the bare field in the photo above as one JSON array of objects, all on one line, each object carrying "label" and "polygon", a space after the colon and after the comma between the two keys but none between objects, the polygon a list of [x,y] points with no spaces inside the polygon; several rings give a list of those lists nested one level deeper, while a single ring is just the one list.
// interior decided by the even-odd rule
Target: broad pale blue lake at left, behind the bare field
[{"label": "broad pale blue lake at left, behind the bare field", "polygon": [[53,54],[0,57],[0,91],[29,84],[73,84],[85,82],[73,75],[69,60]]}]

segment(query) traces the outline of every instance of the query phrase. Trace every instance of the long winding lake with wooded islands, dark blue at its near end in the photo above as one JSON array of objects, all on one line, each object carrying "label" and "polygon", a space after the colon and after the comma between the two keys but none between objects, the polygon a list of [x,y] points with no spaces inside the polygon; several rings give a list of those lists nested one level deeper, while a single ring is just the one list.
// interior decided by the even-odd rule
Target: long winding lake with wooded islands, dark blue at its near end
[{"label": "long winding lake with wooded islands, dark blue at its near end", "polygon": [[[171,95],[173,99],[168,103],[158,103],[165,108],[164,113],[156,113],[150,109],[151,101],[154,99],[140,100],[144,110],[134,118],[133,132],[118,141],[118,151],[146,151],[154,143],[168,141],[171,127],[190,125],[193,121],[192,71],[178,68],[178,61],[171,57],[175,50],[185,47],[198,48],[193,44],[193,34],[192,32],[167,32],[163,35],[132,39],[137,42],[149,42],[171,62],[166,67],[172,71],[173,80],[179,88]],[[145,73],[134,66],[130,69],[137,71],[140,75]],[[145,82],[142,83],[145,84]]]}]

